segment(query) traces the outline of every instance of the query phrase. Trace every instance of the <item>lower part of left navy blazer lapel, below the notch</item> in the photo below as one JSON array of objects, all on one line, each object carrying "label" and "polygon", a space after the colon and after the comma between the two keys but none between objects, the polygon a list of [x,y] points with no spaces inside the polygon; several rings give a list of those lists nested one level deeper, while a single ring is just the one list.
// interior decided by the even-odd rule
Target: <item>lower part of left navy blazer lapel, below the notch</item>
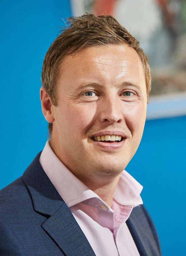
[{"label": "lower part of left navy blazer lapel, below the notch", "polygon": [[42,224],[42,227],[65,255],[95,256],[87,238],[65,203]]}]

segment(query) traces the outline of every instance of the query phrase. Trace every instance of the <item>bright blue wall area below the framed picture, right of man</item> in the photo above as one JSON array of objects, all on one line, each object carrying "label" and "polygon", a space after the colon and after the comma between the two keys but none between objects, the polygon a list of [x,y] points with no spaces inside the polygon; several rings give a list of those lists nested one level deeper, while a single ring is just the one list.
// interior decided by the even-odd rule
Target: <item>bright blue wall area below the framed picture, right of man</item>
[{"label": "bright blue wall area below the framed picture, right of man", "polygon": [[185,255],[186,116],[146,121],[143,138],[126,170],[144,186],[163,256]]}]

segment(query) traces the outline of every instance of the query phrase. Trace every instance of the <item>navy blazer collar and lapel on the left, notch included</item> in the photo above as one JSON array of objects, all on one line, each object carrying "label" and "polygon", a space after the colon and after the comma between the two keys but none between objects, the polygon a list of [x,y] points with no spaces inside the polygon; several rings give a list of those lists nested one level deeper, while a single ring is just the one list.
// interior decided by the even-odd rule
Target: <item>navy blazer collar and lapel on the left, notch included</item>
[{"label": "navy blazer collar and lapel on the left, notch included", "polygon": [[96,256],[73,214],[40,165],[41,152],[23,174],[33,207],[46,220],[41,225],[66,256]]}]

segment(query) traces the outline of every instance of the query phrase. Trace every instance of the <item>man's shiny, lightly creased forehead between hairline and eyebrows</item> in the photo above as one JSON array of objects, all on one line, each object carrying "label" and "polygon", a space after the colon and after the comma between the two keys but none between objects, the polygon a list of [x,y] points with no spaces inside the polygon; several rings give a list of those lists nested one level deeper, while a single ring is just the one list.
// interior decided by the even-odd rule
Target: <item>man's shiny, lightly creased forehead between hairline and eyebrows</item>
[{"label": "man's shiny, lightly creased forehead between hairline and eyebrows", "polygon": [[145,84],[144,68],[137,52],[127,44],[91,46],[67,55],[61,66],[62,80],[116,84],[122,80]]}]

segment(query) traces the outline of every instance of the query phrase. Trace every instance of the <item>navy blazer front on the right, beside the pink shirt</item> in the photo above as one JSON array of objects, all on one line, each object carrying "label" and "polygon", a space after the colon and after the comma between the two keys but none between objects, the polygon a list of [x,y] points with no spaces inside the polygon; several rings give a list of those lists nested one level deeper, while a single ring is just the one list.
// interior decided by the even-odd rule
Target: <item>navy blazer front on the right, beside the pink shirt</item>
[{"label": "navy blazer front on the right, beside the pink shirt", "polygon": [[141,256],[161,255],[143,206],[137,206],[132,210],[126,224]]}]

